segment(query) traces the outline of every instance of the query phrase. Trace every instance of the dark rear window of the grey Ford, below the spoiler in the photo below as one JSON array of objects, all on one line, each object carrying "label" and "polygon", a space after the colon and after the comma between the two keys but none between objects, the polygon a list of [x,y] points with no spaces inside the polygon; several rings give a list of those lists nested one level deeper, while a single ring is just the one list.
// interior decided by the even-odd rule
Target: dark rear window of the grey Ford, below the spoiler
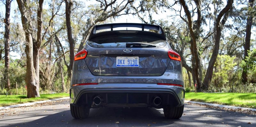
[{"label": "dark rear window of the grey Ford, below the spoiler", "polygon": [[100,36],[89,40],[88,45],[95,48],[126,48],[126,42],[140,42],[155,45],[161,48],[167,45],[167,42],[161,38],[148,35],[116,35]]}]

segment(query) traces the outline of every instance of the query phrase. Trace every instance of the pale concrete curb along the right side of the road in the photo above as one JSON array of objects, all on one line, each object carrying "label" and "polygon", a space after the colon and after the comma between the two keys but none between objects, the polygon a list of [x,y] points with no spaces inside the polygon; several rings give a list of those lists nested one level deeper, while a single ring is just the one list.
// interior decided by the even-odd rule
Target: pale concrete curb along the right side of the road
[{"label": "pale concrete curb along the right side of the road", "polygon": [[237,107],[237,106],[229,106],[229,105],[221,105],[221,104],[212,104],[212,103],[205,103],[205,102],[193,102],[193,101],[188,101],[185,100],[185,103],[192,103],[192,104],[202,104],[202,105],[209,105],[209,106],[216,106],[220,108],[227,108],[227,109],[241,109],[241,110],[252,110],[256,111],[256,109],[251,109],[251,108],[244,108],[244,107]]}]

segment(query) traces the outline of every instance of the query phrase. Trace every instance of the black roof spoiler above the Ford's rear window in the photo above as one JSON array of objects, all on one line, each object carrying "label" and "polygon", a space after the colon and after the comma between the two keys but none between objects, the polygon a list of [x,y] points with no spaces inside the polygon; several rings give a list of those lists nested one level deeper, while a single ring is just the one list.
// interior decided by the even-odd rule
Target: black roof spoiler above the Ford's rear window
[{"label": "black roof spoiler above the Ford's rear window", "polygon": [[[95,38],[99,35],[104,35],[104,34],[118,34],[118,31],[122,31],[122,32],[127,32],[129,33],[129,31],[132,33],[132,31],[134,30],[113,30],[115,28],[121,28],[121,27],[133,27],[133,28],[137,28],[135,31],[137,31],[138,33],[146,33],[149,35],[155,35],[157,37],[160,37],[161,39],[166,40],[163,28],[159,25],[150,25],[150,24],[139,24],[139,23],[114,23],[114,24],[102,24],[102,25],[95,25],[92,28],[92,31],[89,35],[88,40],[91,40],[92,38]],[[138,30],[141,29],[141,30]],[[100,30],[104,31],[104,32],[99,32]],[[145,31],[144,31],[145,30]],[[148,30],[148,31],[146,31]],[[98,32],[97,32],[98,31]],[[156,31],[156,32],[152,32],[152,31]]]}]

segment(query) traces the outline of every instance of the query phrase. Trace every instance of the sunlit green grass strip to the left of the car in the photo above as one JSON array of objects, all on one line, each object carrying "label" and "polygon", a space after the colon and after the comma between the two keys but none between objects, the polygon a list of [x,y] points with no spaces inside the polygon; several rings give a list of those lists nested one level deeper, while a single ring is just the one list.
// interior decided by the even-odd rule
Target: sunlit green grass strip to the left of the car
[{"label": "sunlit green grass strip to the left of the car", "polygon": [[[26,95],[0,95],[0,107],[28,102],[38,102],[62,97],[68,97],[69,93],[41,94],[40,97],[27,98]],[[20,99],[21,98],[21,99]]]}]

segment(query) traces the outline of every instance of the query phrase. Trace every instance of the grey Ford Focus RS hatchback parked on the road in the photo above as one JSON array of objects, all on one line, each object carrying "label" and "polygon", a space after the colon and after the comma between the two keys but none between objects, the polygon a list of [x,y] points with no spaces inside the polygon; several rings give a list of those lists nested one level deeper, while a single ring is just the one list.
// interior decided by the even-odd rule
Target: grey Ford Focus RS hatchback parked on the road
[{"label": "grey Ford Focus RS hatchback parked on the road", "polygon": [[180,55],[158,25],[96,25],[75,55],[70,87],[74,118],[99,107],[163,108],[165,117],[180,118],[184,96]]}]

